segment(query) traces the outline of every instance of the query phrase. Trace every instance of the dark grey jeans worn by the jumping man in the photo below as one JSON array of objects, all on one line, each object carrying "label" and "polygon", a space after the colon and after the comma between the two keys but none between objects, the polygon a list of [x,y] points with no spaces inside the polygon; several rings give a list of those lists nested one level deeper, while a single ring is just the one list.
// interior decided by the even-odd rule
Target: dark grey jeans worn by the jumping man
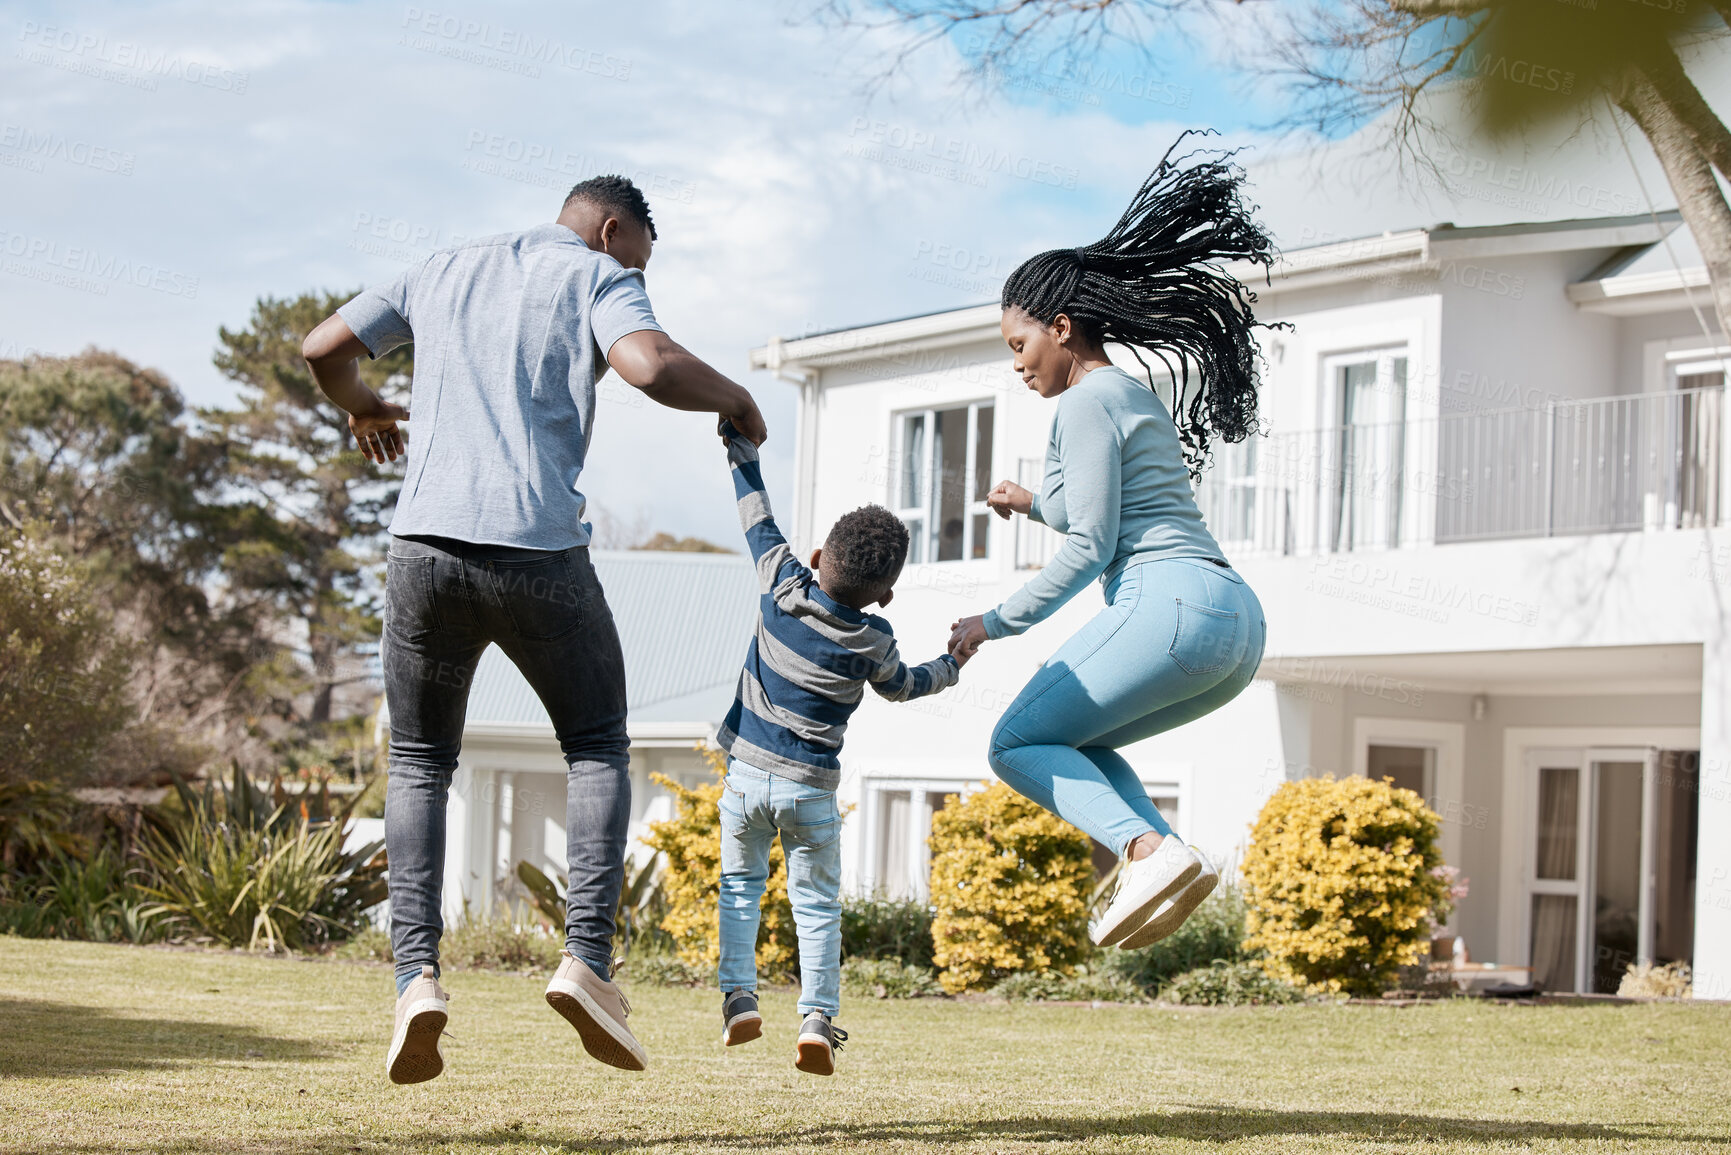
[{"label": "dark grey jeans worn by the jumping man", "polygon": [[422,965],[438,966],[445,802],[469,684],[488,642],[535,687],[564,752],[566,949],[608,973],[632,814],[630,739],[620,634],[589,551],[396,537],[386,582],[391,776],[384,847],[398,980],[419,975]]}]

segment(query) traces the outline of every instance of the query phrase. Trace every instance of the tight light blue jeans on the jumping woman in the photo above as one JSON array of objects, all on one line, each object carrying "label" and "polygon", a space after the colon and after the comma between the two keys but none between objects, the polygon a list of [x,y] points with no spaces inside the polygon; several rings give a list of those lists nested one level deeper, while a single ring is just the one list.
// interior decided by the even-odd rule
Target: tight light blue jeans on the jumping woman
[{"label": "tight light blue jeans on the jumping woman", "polygon": [[1116,854],[1172,828],[1120,746],[1193,722],[1257,674],[1262,603],[1203,558],[1129,566],[1106,608],[1058,648],[992,731],[990,760],[1018,793]]}]

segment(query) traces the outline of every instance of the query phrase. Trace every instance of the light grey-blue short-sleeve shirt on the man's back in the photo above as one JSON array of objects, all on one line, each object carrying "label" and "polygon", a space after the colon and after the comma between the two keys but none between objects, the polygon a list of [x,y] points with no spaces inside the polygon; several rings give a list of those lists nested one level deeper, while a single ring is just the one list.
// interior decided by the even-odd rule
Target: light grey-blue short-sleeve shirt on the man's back
[{"label": "light grey-blue short-sleeve shirt on the man's back", "polygon": [[393,535],[589,544],[576,478],[595,377],[615,341],[661,329],[642,272],[537,225],[434,253],[338,315],[374,357],[415,345]]}]

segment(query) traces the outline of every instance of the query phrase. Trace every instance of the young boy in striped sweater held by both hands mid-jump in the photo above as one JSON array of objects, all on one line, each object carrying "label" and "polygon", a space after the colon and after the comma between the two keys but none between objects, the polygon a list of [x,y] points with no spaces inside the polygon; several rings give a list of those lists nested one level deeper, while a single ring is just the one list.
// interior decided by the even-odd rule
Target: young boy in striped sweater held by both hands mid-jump
[{"label": "young boy in striped sweater held by both hands mid-jump", "polygon": [[793,1065],[829,1075],[848,1037],[833,1023],[841,1006],[841,734],[867,684],[890,701],[911,701],[954,686],[961,665],[949,655],[904,665],[890,623],[866,613],[890,604],[907,559],[900,518],[881,506],[855,509],[812,551],[807,570],[775,528],[756,447],[727,421],[720,429],[763,590],[739,693],[718,736],[730,755],[722,790],[722,1042],[763,1034],[758,902],[781,831],[800,932],[803,1022]]}]

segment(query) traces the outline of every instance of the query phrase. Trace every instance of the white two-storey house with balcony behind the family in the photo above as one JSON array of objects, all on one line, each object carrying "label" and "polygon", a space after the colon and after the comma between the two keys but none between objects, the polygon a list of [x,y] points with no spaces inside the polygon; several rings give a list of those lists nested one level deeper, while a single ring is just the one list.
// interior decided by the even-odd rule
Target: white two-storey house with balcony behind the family
[{"label": "white two-storey house with balcony behind the family", "polygon": [[[1703,272],[1662,244],[1676,229],[1674,213],[1438,225],[1297,249],[1257,286],[1258,317],[1293,324],[1264,339],[1267,436],[1219,448],[1200,499],[1264,603],[1267,656],[1229,707],[1125,752],[1186,840],[1231,861],[1281,781],[1387,774],[1444,817],[1471,883],[1454,930],[1477,959],[1530,965],[1553,990],[1693,959],[1696,992],[1731,997],[1731,838],[1714,836],[1731,835],[1731,350],[1700,312]],[[885,613],[911,661],[1056,545],[981,500],[1037,480],[1052,416],[997,322],[981,305],[751,352],[800,390],[779,511],[795,547],[864,502],[912,530]],[[639,565],[713,601],[691,629],[646,623],[656,641],[634,655]],[[687,748],[730,700],[750,568],[597,568],[627,634],[634,774],[701,772]],[[867,694],[843,753],[850,888],[924,894],[933,810],[990,776],[994,720],[1097,608],[1089,592],[988,644],[942,696]],[[692,653],[672,708],[639,663],[672,677]],[[559,866],[563,765],[497,655],[469,717],[452,881],[474,895],[486,864]]]}]

